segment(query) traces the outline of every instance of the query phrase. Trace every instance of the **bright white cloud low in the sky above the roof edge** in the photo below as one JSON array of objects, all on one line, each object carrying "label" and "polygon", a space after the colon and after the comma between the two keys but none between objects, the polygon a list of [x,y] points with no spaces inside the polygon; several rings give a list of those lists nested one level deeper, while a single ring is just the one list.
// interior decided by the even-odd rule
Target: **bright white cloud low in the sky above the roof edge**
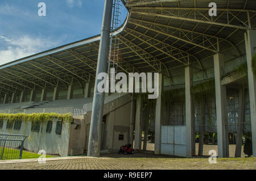
[{"label": "bright white cloud low in the sky above the roof edge", "polygon": [[44,38],[33,39],[29,36],[18,39],[8,39],[5,36],[0,36],[0,43],[5,45],[2,47],[7,47],[0,50],[0,65],[42,52],[59,44],[57,41]]}]

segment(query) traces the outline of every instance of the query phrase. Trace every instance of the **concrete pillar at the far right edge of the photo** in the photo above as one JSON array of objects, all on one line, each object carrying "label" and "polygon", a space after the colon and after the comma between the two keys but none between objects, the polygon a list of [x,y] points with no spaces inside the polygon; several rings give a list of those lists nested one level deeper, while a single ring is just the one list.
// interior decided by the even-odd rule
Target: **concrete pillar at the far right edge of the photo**
[{"label": "concrete pillar at the far right edge of the photo", "polygon": [[245,33],[245,47],[248,67],[248,84],[251,113],[251,137],[253,141],[253,156],[256,157],[256,75],[251,69],[251,60],[256,53],[256,30],[247,30]]}]

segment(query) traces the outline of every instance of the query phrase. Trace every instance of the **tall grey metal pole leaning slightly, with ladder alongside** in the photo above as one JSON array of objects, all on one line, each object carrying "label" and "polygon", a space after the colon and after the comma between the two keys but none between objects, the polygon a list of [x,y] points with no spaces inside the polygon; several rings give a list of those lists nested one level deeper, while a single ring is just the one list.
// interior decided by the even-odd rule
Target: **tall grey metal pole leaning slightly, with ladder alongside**
[{"label": "tall grey metal pole leaning slightly, with ladder alongside", "polygon": [[105,0],[104,15],[101,27],[100,49],[98,52],[97,73],[94,86],[92,118],[90,121],[90,136],[87,154],[88,157],[100,157],[102,114],[105,93],[100,93],[97,90],[98,83],[101,81],[97,79],[97,76],[99,73],[107,72],[112,7],[113,0]]}]

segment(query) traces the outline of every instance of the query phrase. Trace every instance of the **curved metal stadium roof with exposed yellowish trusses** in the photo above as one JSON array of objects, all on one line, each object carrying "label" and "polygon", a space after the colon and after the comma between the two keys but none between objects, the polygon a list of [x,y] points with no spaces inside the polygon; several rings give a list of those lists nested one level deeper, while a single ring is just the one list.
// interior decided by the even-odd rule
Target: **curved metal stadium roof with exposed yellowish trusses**
[{"label": "curved metal stadium roof with exposed yellowish trusses", "polygon": [[[208,0],[122,2],[129,14],[115,36],[118,71],[126,73],[178,77],[184,66],[212,68],[215,53],[225,61],[244,55],[244,33],[256,28],[255,0],[215,0],[217,16],[208,15]],[[100,35],[0,66],[0,93],[94,82],[99,43]]]}]

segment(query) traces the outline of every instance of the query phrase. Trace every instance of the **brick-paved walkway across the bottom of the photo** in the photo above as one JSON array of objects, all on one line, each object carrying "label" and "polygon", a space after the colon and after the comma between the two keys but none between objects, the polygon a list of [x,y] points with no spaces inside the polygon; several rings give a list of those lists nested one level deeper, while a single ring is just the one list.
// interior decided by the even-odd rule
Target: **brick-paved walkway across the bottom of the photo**
[{"label": "brick-paved walkway across the bottom of the photo", "polygon": [[[16,163],[15,163],[16,162]],[[100,158],[59,157],[47,158],[46,163],[37,159],[29,161],[0,162],[0,169],[18,170],[154,170],[154,169],[256,169],[256,158],[217,158],[209,164],[208,158],[175,158],[166,155],[137,153],[135,155],[104,154]]]}]

